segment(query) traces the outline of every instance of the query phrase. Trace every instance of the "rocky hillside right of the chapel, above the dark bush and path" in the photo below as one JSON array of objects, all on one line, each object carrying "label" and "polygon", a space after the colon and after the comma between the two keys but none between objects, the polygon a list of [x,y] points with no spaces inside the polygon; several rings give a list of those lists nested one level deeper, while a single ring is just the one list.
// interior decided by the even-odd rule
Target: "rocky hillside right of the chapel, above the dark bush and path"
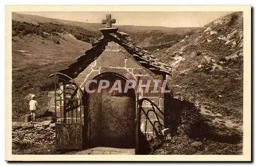
[{"label": "rocky hillside right of the chapel, above the dark bush and path", "polygon": [[160,60],[174,67],[170,84],[175,86],[175,95],[195,101],[203,99],[219,107],[226,106],[225,112],[223,109],[212,111],[242,117],[242,13],[215,20],[183,40],[170,48],[153,52]]}]

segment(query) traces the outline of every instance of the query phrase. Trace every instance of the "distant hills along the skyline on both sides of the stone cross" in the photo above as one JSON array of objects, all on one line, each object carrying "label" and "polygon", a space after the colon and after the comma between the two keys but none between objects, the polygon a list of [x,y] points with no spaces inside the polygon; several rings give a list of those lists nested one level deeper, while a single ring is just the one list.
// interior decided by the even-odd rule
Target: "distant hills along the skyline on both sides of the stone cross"
[{"label": "distant hills along the skyline on both sides of the stone cross", "polygon": [[[34,25],[42,23],[53,23],[66,26],[75,26],[83,28],[100,35],[100,28],[104,28],[101,23],[88,23],[79,21],[62,20],[55,18],[47,18],[36,15],[12,13],[12,20],[20,22],[28,22]],[[184,37],[184,34],[198,28],[168,28],[168,27],[145,27],[145,26],[115,26],[120,32],[125,32],[140,46],[167,43],[179,40]],[[97,37],[97,36],[94,36]]]}]

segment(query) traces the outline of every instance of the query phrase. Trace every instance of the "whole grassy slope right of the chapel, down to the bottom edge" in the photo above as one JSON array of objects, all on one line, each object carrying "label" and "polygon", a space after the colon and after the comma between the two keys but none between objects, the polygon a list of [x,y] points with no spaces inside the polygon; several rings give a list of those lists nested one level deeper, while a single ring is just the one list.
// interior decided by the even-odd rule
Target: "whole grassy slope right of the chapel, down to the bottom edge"
[{"label": "whole grassy slope right of the chapel, down to the bottom edge", "polygon": [[[174,96],[180,101],[183,99],[183,103],[195,103],[200,108],[195,111],[186,110],[186,105],[181,106],[179,114],[183,113],[182,118],[186,120],[181,122],[181,128],[190,125],[196,130],[191,130],[189,135],[178,129],[172,140],[166,141],[155,154],[242,153],[243,13],[227,15],[221,21],[222,25],[211,22],[184,41],[154,53],[174,66],[173,76],[169,78]],[[207,27],[218,34],[203,32]],[[235,46],[218,39],[235,30],[237,33],[231,38],[236,41]],[[207,42],[207,39],[212,41]],[[174,64],[177,57],[184,59]],[[217,67],[213,69],[214,66]],[[198,117],[193,118],[196,115]],[[200,118],[202,122],[198,122]],[[199,145],[191,146],[195,140]]]}]

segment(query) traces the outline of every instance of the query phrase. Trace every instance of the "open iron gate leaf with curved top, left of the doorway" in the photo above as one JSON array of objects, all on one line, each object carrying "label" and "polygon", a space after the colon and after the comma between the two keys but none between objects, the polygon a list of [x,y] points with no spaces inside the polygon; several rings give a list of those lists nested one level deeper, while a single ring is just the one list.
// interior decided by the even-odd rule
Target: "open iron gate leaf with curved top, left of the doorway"
[{"label": "open iron gate leaf with curved top, left of the doorway", "polygon": [[56,149],[81,149],[83,92],[69,76],[55,74]]}]

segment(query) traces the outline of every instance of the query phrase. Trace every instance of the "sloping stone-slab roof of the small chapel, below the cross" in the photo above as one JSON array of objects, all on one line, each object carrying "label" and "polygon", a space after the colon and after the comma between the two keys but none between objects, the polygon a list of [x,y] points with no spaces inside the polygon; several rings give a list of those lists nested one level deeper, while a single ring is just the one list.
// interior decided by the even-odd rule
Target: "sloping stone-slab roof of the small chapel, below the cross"
[{"label": "sloping stone-slab roof of the small chapel, below the cross", "polygon": [[[160,60],[151,55],[136,45],[128,34],[118,31],[110,31],[109,33],[103,33],[103,36],[92,44],[92,48],[87,50],[83,55],[77,58],[77,60],[71,63],[67,68],[59,70],[58,73],[66,74],[72,79],[76,78],[87,66],[89,66],[94,60],[96,60],[102,52],[105,50],[105,46],[108,42],[114,41],[121,45],[134,59],[139,62],[143,67],[148,68],[155,74],[167,74],[171,75],[172,67],[162,63]],[[50,77],[54,74],[50,75]]]}]

